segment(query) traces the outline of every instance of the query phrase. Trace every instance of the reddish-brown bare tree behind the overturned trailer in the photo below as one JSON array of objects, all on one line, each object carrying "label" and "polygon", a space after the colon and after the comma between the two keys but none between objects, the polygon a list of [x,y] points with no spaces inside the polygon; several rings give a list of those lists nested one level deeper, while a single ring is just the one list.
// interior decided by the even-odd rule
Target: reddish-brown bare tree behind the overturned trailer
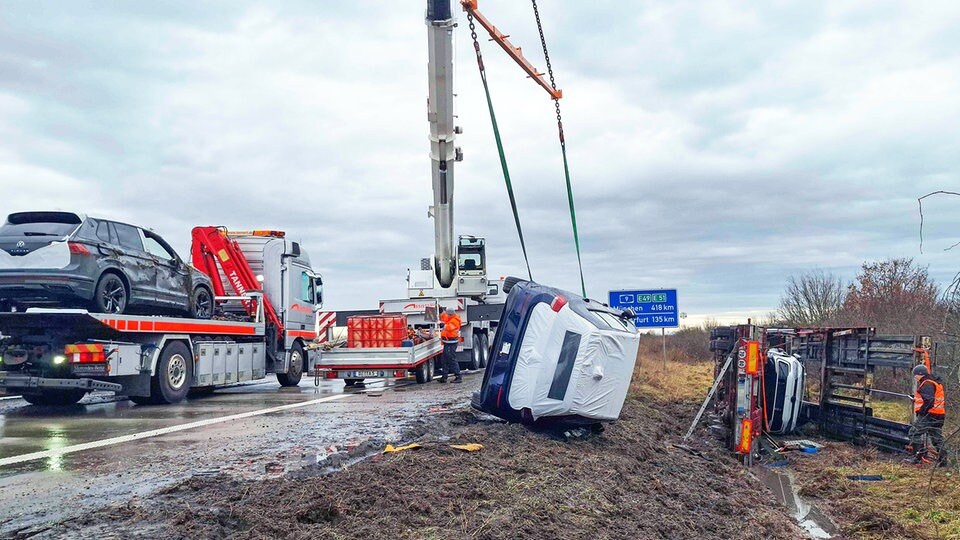
[{"label": "reddish-brown bare tree behind the overturned trailer", "polygon": [[850,285],[841,320],[888,334],[936,334],[944,322],[939,288],[913,259],[864,263]]}]

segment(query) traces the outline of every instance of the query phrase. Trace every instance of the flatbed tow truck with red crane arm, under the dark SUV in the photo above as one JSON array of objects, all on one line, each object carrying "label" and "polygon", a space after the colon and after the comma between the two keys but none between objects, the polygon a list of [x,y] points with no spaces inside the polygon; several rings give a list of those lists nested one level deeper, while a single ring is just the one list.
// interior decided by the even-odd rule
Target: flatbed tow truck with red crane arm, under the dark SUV
[{"label": "flatbed tow truck with red crane arm, under the dark SUV", "polygon": [[[138,404],[262,379],[299,384],[313,362],[323,279],[282,231],[196,227],[192,262],[213,281],[212,320],[28,309],[0,314],[0,390],[36,405],[91,391]],[[232,295],[227,295],[227,291]]]}]

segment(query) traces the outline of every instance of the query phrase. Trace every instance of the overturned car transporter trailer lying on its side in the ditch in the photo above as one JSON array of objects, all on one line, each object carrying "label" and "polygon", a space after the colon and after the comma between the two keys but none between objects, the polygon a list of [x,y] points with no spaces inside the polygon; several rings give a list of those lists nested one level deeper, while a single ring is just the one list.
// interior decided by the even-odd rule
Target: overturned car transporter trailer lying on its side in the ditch
[{"label": "overturned car transporter trailer lying on its side in the ditch", "polygon": [[[909,442],[910,372],[919,363],[930,363],[929,337],[883,336],[866,327],[719,327],[710,345],[717,375],[744,340],[758,344],[765,366],[764,378],[753,392],[756,398],[765,396],[755,400],[759,414],[754,416],[762,422],[760,428],[755,426],[755,434],[789,433],[814,423],[824,435],[888,450],[902,451]],[[741,395],[750,394],[743,381],[742,369],[739,374],[730,369],[715,401],[717,426],[733,447],[740,437],[737,418],[744,417],[742,404],[749,402]]]}]

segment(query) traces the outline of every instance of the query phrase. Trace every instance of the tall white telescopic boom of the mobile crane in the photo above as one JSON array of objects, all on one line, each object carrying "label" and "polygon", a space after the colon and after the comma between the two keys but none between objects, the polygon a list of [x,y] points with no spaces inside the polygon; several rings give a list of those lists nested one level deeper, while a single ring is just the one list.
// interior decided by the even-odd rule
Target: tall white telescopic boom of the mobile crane
[{"label": "tall white telescopic boom of the mobile crane", "polygon": [[433,177],[435,232],[434,269],[442,287],[449,287],[456,275],[456,245],[453,236],[453,165],[462,159],[454,145],[458,128],[453,120],[453,29],[456,21],[450,0],[427,0],[429,47],[430,163]]}]

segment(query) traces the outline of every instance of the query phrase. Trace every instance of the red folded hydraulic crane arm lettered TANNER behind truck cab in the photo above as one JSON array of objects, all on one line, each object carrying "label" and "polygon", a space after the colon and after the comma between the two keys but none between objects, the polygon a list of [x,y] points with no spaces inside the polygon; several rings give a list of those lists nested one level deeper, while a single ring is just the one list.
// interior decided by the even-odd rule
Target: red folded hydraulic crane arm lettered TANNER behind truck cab
[{"label": "red folded hydraulic crane arm lettered TANNER behind truck cab", "polygon": [[[194,227],[193,244],[190,251],[193,255],[193,265],[198,270],[210,276],[213,282],[213,291],[217,296],[226,296],[223,288],[223,279],[233,288],[237,296],[244,296],[247,292],[263,293],[263,288],[257,277],[253,275],[250,263],[243,256],[237,241],[227,236],[223,227]],[[221,270],[223,273],[221,274]],[[283,323],[273,310],[273,305],[263,296],[263,311],[267,322],[276,326],[277,334],[283,335]],[[244,309],[250,316],[256,315],[257,306],[254,301],[243,302]]]}]

